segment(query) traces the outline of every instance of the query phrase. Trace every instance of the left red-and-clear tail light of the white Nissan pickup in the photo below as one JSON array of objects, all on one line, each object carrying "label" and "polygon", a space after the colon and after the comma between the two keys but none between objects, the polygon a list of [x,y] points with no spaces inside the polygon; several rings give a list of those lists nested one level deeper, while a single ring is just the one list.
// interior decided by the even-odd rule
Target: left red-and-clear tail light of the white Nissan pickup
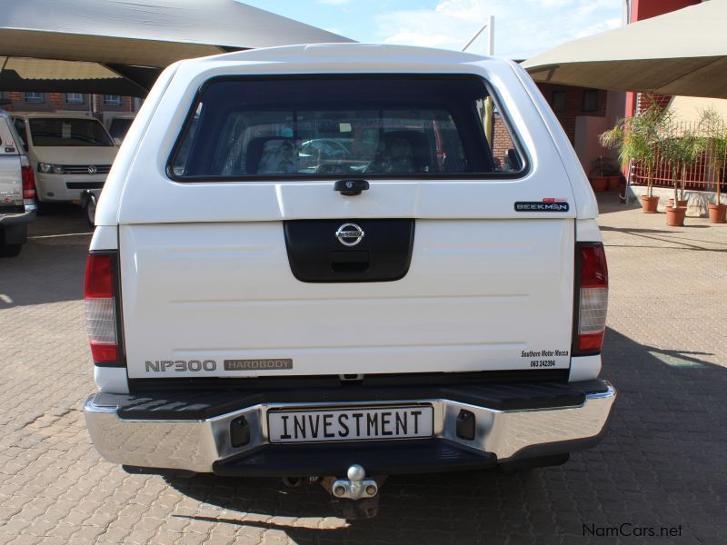
[{"label": "left red-and-clear tail light of the white Nissan pickup", "polygon": [[85,263],[85,324],[95,363],[118,363],[114,254],[89,253]]}]

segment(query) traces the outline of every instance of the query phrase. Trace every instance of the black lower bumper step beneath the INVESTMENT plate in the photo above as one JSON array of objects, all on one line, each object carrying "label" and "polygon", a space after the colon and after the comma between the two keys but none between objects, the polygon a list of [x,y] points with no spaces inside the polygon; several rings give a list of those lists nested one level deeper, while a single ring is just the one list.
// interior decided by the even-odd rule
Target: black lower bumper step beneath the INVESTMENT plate
[{"label": "black lower bumper step beneath the INVESTMENT plate", "polygon": [[483,469],[496,465],[497,457],[443,439],[285,444],[216,461],[213,471],[227,477],[343,476],[354,463],[373,477]]}]

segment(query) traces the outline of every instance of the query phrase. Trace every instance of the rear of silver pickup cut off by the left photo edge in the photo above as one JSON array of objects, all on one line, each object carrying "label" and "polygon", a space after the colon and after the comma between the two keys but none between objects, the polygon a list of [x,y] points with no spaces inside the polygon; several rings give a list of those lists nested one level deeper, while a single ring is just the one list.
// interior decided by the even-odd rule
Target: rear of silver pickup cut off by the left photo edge
[{"label": "rear of silver pickup cut off by the left photo edge", "polygon": [[0,112],[0,257],[20,253],[35,219],[35,176],[12,120]]}]

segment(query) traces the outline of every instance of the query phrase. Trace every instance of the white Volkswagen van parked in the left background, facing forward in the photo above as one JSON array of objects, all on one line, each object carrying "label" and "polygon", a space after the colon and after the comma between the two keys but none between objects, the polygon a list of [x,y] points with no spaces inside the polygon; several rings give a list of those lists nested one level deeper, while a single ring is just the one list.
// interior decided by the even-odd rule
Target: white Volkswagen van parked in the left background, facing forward
[{"label": "white Volkswagen van parked in the left background, facing forward", "polygon": [[104,187],[118,147],[95,117],[13,113],[13,120],[35,171],[39,213],[44,203],[81,203]]}]

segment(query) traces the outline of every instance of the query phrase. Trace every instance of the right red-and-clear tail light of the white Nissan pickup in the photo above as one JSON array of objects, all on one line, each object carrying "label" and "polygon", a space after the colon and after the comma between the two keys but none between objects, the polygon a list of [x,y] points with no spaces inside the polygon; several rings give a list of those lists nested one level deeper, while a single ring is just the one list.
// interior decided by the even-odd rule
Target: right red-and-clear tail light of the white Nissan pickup
[{"label": "right red-and-clear tail light of the white Nissan pickup", "polygon": [[574,355],[597,354],[603,345],[608,311],[608,267],[602,243],[578,243],[578,312]]}]

